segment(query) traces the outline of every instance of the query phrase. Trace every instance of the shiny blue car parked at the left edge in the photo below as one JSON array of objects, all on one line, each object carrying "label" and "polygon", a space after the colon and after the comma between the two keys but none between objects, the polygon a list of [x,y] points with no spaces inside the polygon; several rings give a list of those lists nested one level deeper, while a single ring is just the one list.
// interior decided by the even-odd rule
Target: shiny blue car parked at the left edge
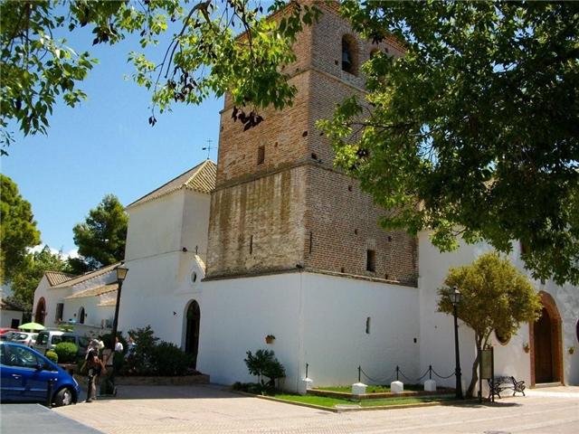
[{"label": "shiny blue car parked at the left edge", "polygon": [[52,405],[76,403],[79,383],[70,373],[32,348],[12,342],[0,343],[0,401],[46,402],[48,382],[52,381]]}]

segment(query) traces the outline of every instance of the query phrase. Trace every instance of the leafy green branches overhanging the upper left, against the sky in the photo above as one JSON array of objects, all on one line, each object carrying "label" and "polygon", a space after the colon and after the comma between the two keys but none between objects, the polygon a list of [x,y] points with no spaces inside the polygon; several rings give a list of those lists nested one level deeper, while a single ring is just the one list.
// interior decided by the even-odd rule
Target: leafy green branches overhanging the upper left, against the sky
[{"label": "leafy green branches overhanging the upper left, against the sky", "polygon": [[[291,42],[317,14],[316,8],[294,5],[278,21],[265,19],[264,13],[284,6],[282,0],[267,11],[261,2],[247,0],[1,0],[2,153],[14,141],[10,122],[24,135],[46,133],[57,99],[74,107],[87,98],[79,84],[98,61],[66,40],[87,25],[93,45],[113,45],[130,34],[140,38],[129,61],[137,83],[152,91],[149,124],[157,122],[156,108],[198,104],[225,91],[243,124],[259,124],[258,109],[282,108],[294,96],[296,89],[279,67],[295,59]],[[155,61],[147,59],[144,51],[163,33],[172,34],[168,46],[155,51]]]}]

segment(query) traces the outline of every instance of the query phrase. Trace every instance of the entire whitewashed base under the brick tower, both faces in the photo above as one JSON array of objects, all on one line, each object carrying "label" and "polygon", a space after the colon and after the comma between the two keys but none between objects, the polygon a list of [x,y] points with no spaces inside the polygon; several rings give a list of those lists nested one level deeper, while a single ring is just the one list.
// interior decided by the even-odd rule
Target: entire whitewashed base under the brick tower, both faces
[{"label": "entire whitewashed base under the brick tower, both faces", "polygon": [[[318,385],[351,384],[357,366],[384,377],[418,368],[418,291],[352,278],[289,273],[203,283],[198,369],[212,381],[255,381],[247,350],[269,348],[286,368],[284,387],[308,375]],[[366,317],[371,333],[365,334]],[[265,344],[275,335],[274,344]]]}]

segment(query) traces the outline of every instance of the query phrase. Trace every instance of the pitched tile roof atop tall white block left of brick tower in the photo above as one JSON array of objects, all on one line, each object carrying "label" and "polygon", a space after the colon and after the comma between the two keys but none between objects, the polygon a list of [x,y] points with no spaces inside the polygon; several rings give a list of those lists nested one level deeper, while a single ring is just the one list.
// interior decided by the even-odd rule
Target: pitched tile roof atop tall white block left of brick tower
[{"label": "pitched tile roof atop tall white block left of brick tower", "polygon": [[141,203],[147,203],[176,192],[183,188],[199,193],[211,193],[215,188],[215,177],[217,176],[217,165],[211,160],[205,160],[200,165],[195,165],[193,169],[187,170],[185,174],[178,175],[168,183],[161,185],[157,190],[152,191],[130,203],[127,208],[131,208]]}]

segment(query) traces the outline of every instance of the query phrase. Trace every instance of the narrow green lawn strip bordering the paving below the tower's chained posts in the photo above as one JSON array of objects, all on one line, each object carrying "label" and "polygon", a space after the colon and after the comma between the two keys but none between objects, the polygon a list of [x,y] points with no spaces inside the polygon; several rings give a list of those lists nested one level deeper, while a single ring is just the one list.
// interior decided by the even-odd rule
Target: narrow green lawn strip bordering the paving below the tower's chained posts
[{"label": "narrow green lawn strip bordering the paving below the tower's chained posts", "polygon": [[284,401],[291,402],[301,402],[305,404],[318,405],[320,407],[326,407],[328,409],[333,409],[337,405],[361,405],[362,407],[386,407],[391,405],[401,405],[401,404],[418,404],[424,402],[442,402],[442,401],[452,401],[454,396],[416,396],[416,397],[405,397],[405,398],[387,398],[382,400],[362,400],[362,401],[350,401],[343,400],[339,398],[328,398],[326,396],[315,396],[315,395],[292,395],[292,394],[275,394],[275,398]]}]

